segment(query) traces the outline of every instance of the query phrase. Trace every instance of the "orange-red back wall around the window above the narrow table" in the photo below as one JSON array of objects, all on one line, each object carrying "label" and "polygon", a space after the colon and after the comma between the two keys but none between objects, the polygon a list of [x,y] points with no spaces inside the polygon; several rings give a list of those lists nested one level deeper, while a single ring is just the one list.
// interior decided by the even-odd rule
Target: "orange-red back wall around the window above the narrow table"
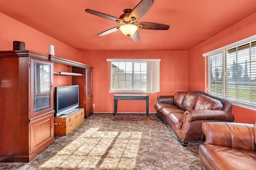
[{"label": "orange-red back wall around the window above the narrow table", "polygon": [[[92,86],[94,112],[113,112],[113,95],[110,90],[110,62],[106,59],[161,59],[160,92],[148,93],[149,112],[155,113],[154,104],[158,95],[173,95],[187,90],[186,51],[99,51],[82,52],[83,63],[93,68]],[[145,101],[118,101],[118,112],[146,112]]]}]

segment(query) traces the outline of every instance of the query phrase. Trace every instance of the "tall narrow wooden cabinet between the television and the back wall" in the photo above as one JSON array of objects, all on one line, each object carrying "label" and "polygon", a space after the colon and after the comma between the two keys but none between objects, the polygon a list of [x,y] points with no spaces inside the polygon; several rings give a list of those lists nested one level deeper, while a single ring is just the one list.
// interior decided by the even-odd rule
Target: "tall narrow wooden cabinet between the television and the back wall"
[{"label": "tall narrow wooden cabinet between the television and the back wall", "polygon": [[81,73],[84,76],[72,76],[72,84],[79,85],[79,107],[85,108],[84,117],[88,118],[92,113],[92,67],[78,68],[73,66],[72,72]]}]

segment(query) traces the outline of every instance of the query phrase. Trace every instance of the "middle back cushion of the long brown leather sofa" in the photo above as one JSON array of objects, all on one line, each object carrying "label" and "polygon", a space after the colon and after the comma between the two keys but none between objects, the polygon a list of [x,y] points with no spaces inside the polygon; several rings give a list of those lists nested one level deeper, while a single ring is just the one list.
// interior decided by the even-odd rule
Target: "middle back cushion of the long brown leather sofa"
[{"label": "middle back cushion of the long brown leather sofa", "polygon": [[182,105],[183,110],[194,110],[196,106],[196,101],[200,93],[196,92],[188,92],[184,98],[184,102]]}]

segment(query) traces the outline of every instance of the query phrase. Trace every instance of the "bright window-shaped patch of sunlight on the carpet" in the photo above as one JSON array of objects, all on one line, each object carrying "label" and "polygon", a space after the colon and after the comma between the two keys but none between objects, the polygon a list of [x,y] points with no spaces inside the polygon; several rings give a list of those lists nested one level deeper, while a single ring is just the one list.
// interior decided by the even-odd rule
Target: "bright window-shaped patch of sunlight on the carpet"
[{"label": "bright window-shaped patch of sunlight on the carpet", "polygon": [[[96,168],[132,170],[142,132],[98,131],[90,128],[68,143],[40,168]],[[74,147],[75,146],[75,147]]]}]

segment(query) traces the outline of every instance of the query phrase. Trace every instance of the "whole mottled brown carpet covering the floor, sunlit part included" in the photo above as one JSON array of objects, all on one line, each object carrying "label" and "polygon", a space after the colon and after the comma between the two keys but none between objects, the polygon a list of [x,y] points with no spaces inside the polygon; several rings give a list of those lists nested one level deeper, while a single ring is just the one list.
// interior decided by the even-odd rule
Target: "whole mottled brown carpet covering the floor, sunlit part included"
[{"label": "whole mottled brown carpet covering the floor, sunlit part included", "polygon": [[201,170],[199,144],[183,147],[155,114],[94,113],[21,170]]}]

